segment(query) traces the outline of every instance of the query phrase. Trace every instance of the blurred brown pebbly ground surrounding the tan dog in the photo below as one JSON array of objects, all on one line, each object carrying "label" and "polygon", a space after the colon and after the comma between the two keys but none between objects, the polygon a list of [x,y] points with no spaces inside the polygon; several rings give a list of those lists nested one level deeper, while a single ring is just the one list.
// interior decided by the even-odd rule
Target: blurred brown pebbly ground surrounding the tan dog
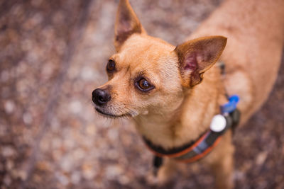
[{"label": "blurred brown pebbly ground surrounding the tan dog", "polygon": [[[150,35],[178,45],[222,0],[131,0]],[[94,112],[114,52],[114,0],[0,1],[0,188],[153,188],[129,120]],[[234,135],[236,188],[284,188],[284,63],[270,98]],[[168,188],[212,188],[206,167]]]}]

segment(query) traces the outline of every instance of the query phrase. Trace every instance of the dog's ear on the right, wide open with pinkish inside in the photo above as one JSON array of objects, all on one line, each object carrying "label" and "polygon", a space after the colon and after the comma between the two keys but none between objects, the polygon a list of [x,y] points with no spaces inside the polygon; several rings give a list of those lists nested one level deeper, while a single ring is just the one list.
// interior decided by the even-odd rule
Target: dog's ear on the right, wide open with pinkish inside
[{"label": "dog's ear on the right, wide open with pinkish inside", "polygon": [[190,40],[175,48],[178,55],[182,86],[200,84],[202,75],[212,67],[226,46],[226,38],[210,36]]}]

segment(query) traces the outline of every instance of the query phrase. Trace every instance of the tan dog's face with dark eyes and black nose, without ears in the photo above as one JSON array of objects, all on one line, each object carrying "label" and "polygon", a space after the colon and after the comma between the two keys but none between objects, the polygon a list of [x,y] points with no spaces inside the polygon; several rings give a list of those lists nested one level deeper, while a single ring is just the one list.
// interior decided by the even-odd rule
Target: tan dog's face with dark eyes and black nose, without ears
[{"label": "tan dog's face with dark eyes and black nose, without ears", "polygon": [[135,116],[179,105],[182,85],[174,49],[147,35],[131,36],[107,62],[109,81],[93,95],[97,111]]}]

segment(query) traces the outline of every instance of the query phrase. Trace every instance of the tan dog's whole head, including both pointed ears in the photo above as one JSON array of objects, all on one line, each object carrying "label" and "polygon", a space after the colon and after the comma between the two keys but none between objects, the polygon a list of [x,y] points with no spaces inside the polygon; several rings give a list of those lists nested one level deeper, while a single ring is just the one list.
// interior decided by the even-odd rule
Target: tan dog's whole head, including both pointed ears
[{"label": "tan dog's whole head, including both pointed ears", "polygon": [[116,54],[107,62],[109,81],[92,93],[96,110],[108,117],[173,111],[185,88],[200,84],[217,61],[226,38],[190,40],[177,47],[147,35],[129,1],[116,15]]}]

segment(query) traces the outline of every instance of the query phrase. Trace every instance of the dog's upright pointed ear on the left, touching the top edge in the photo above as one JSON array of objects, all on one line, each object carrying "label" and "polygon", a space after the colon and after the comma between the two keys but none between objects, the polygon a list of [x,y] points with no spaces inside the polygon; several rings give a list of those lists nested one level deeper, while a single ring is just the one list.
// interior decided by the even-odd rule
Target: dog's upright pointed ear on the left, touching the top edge
[{"label": "dog's upright pointed ear on the left, touching the top edge", "polygon": [[117,52],[133,33],[146,33],[146,31],[131,8],[129,1],[121,0],[119,1],[119,9],[116,13],[116,23],[114,25],[114,47]]}]

